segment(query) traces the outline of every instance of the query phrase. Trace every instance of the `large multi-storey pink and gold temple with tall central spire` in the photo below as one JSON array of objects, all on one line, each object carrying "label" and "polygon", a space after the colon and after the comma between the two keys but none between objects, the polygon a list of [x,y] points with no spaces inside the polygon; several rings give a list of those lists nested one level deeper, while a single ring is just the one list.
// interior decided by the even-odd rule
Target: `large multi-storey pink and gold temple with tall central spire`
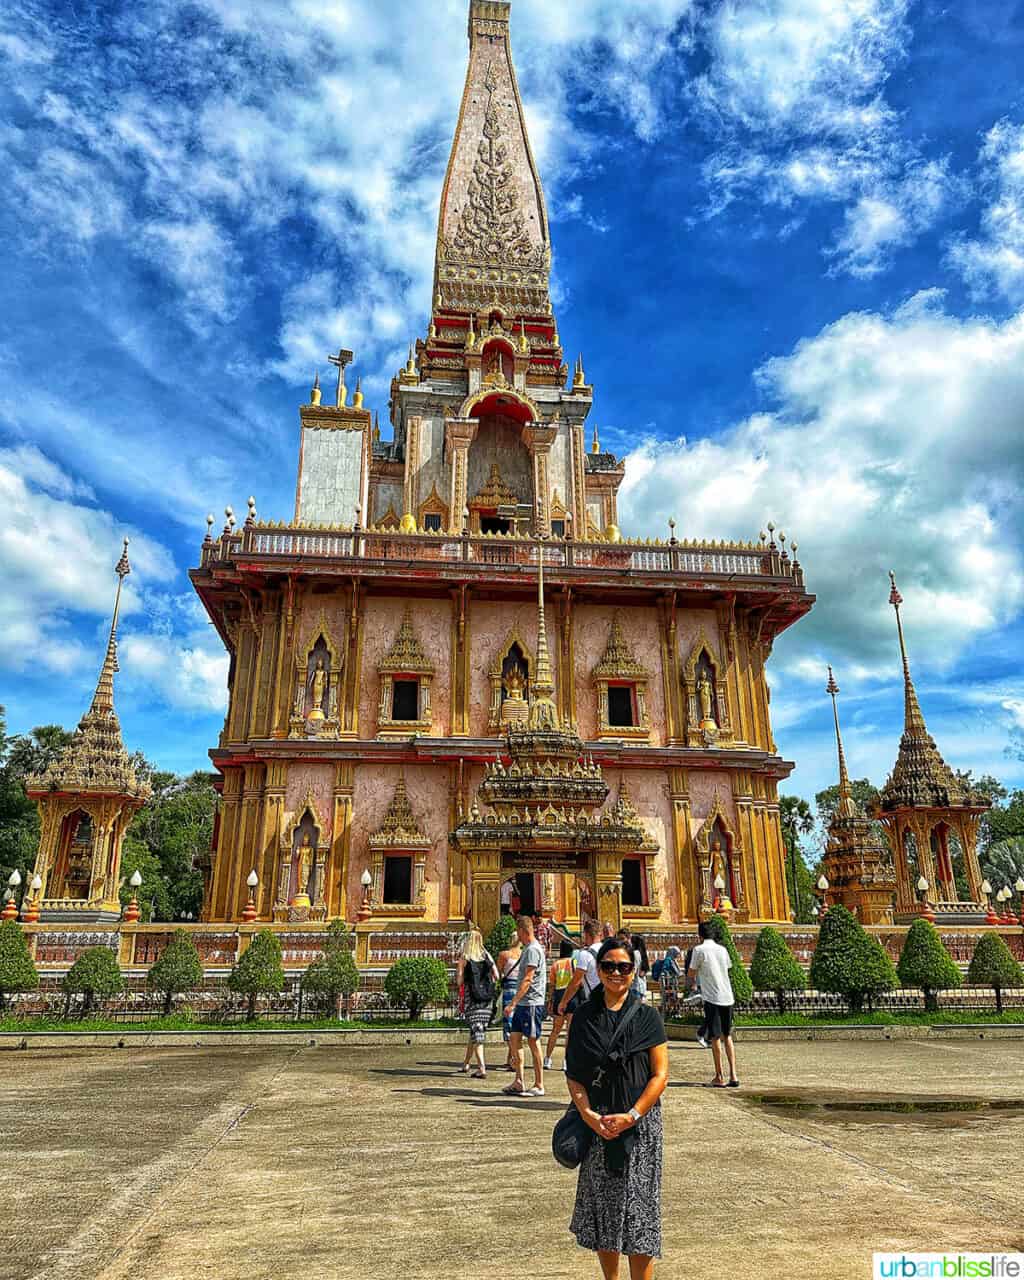
[{"label": "large multi-storey pink and gold temple with tall central spire", "polygon": [[488,925],[509,876],[570,924],[790,919],[765,663],[813,604],[796,545],[623,536],[549,271],[509,5],[472,0],[390,438],[338,352],[292,518],[228,509],[191,575],[230,654],[205,922],[253,870],[264,922]]}]

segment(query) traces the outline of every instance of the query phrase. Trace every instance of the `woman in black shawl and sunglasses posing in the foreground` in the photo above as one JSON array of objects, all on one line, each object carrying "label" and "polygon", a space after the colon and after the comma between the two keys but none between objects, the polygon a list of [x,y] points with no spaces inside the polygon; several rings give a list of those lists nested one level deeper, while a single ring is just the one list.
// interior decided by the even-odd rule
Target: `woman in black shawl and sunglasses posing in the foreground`
[{"label": "woman in black shawl and sunglasses posing in the foreground", "polygon": [[[617,938],[598,952],[600,986],[572,1019],[568,1091],[594,1132],[580,1165],[570,1230],[616,1280],[625,1253],[631,1280],[650,1280],[662,1256],[662,1108],[668,1046],[660,1014],[630,992],[634,956]],[[627,1011],[636,1011],[608,1047]]]}]

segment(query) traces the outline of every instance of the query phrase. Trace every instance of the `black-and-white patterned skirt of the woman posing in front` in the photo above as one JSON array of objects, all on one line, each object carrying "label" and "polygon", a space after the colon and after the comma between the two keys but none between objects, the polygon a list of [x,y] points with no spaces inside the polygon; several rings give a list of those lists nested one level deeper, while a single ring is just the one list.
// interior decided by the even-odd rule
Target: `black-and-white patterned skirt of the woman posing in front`
[{"label": "black-and-white patterned skirt of the woman posing in front", "polygon": [[570,1231],[584,1249],[662,1256],[662,1105],[636,1126],[636,1144],[622,1174],[604,1167],[604,1139],[594,1135],[580,1165]]}]

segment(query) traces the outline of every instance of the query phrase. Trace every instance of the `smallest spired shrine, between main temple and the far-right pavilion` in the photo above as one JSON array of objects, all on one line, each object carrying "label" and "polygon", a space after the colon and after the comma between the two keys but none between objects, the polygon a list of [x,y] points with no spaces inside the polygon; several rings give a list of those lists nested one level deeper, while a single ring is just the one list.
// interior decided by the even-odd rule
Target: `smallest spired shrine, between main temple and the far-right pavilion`
[{"label": "smallest spired shrine, between main temple and the far-right pavilion", "polygon": [[828,824],[822,860],[829,886],[828,902],[845,906],[861,924],[892,924],[892,900],[896,893],[892,854],[878,835],[874,822],[854,800],[840,732],[840,709],[836,701],[838,691],[840,686],[829,667],[826,692],[832,698],[832,717],[836,722],[840,795],[836,813]]}]

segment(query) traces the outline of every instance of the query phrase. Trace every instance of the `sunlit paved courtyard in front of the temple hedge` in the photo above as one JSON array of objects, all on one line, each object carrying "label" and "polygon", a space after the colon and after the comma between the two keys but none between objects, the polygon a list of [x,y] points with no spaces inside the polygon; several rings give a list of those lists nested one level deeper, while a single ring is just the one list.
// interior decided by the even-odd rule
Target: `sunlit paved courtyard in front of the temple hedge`
[{"label": "sunlit paved courtyard in front of the temple hedge", "polygon": [[[1024,1098],[1012,1041],[741,1052],[750,1093]],[[575,1175],[549,1155],[561,1073],[516,1101],[503,1074],[454,1078],[454,1050],[384,1053],[0,1055],[0,1276],[593,1280],[566,1230]],[[872,1249],[1024,1248],[1024,1119],[767,1110],[701,1088],[708,1066],[672,1046],[666,1280],[852,1280]]]}]

